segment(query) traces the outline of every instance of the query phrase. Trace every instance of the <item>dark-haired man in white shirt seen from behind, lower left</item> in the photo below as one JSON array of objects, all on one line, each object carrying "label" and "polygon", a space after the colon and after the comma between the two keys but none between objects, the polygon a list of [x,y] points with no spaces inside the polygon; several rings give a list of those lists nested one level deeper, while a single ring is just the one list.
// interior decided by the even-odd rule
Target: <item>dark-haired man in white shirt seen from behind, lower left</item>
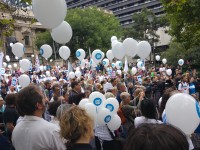
[{"label": "dark-haired man in white shirt seen from behind, lower left", "polygon": [[59,128],[42,118],[45,98],[38,87],[31,85],[20,90],[16,104],[24,119],[13,130],[15,150],[66,149],[59,136]]}]

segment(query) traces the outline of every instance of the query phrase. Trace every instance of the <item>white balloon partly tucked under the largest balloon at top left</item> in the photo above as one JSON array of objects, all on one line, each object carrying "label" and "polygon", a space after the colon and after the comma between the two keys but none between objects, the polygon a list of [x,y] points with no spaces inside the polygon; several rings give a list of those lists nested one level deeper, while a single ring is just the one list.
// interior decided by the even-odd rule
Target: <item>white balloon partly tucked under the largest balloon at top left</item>
[{"label": "white balloon partly tucked under the largest balloon at top left", "polygon": [[63,21],[59,26],[52,30],[51,37],[57,43],[66,44],[72,38],[72,28],[69,23]]}]

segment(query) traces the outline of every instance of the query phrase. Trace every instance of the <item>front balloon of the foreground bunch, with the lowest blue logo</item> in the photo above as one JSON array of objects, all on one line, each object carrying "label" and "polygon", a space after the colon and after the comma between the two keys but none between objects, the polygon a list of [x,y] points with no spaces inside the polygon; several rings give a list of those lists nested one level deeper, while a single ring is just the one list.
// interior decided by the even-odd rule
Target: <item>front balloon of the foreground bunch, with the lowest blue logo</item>
[{"label": "front balloon of the foreground bunch, with the lowest blue logo", "polygon": [[106,108],[102,108],[99,110],[99,112],[97,114],[96,121],[97,121],[98,125],[102,126],[102,125],[109,123],[111,118],[112,117],[111,117],[110,111]]}]

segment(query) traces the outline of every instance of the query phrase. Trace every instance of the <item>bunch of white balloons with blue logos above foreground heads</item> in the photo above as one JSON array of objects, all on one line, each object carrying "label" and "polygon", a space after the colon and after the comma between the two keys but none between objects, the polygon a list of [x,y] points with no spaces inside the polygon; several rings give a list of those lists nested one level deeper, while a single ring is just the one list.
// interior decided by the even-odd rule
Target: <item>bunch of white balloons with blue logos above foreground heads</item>
[{"label": "bunch of white balloons with blue logos above foreground heads", "polygon": [[105,99],[100,92],[93,92],[89,99],[80,101],[79,106],[84,108],[97,125],[107,125],[111,131],[117,130],[121,119],[117,115],[119,102],[115,98]]}]

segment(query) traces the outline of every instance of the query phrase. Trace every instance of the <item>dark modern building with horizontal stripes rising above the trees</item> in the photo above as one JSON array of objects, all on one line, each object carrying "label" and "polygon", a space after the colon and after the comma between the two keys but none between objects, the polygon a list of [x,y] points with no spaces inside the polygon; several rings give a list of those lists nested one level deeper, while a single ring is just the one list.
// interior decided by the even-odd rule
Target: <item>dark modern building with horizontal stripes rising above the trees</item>
[{"label": "dark modern building with horizontal stripes rising above the trees", "polygon": [[111,10],[124,27],[130,26],[133,14],[139,13],[144,7],[151,9],[156,16],[164,13],[159,0],[66,0],[66,3],[68,8],[97,6]]}]

